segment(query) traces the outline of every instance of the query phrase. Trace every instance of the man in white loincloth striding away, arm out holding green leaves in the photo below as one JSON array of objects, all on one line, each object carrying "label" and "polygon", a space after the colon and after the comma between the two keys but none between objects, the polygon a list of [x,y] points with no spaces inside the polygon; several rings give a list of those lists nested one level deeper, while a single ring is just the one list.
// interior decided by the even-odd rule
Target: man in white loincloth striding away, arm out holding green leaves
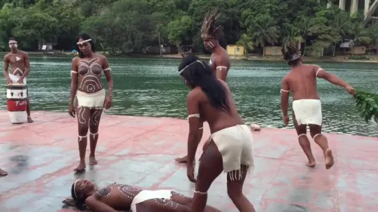
[{"label": "man in white loincloth striding away, arm out holding green leaves", "polygon": [[323,78],[332,84],[341,86],[348,93],[354,95],[356,90],[345,81],[335,75],[327,73],[316,65],[302,64],[300,50],[295,44],[287,46],[287,51],[282,49],[284,59],[288,61],[291,71],[284,76],[281,84],[281,106],[284,115],[284,124],[289,124],[288,107],[289,92],[293,92],[293,122],[298,133],[298,141],[304,154],[309,160],[307,166],[316,166],[315,158],[311,152],[309,139],[307,138],[307,125],[313,140],[322,148],[325,157],[325,168],[334,165],[334,157],[328,146],[327,137],[321,134],[322,130],[322,106],[316,86],[316,77]]}]

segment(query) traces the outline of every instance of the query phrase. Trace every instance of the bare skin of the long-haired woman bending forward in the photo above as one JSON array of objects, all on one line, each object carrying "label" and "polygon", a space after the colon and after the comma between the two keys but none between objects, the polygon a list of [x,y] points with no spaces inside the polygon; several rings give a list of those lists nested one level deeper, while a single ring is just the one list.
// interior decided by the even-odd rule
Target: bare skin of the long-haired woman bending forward
[{"label": "bare skin of the long-haired woman bending forward", "polygon": [[[209,124],[210,132],[215,133],[224,128],[235,126],[237,124],[244,124],[243,119],[239,116],[237,106],[232,98],[230,88],[228,88],[225,81],[218,79],[227,93],[227,102],[230,106],[229,113],[224,110],[214,108],[207,98],[207,95],[200,87],[192,88],[187,96],[187,113],[200,114],[202,119],[192,117],[189,119],[189,135],[188,135],[188,161],[194,161],[196,150],[198,148],[198,137],[201,135],[198,128],[203,126],[203,120]],[[191,86],[189,86],[191,88]],[[241,168],[248,168],[244,166]],[[191,182],[196,183],[196,191],[201,193],[194,193],[193,206],[191,211],[203,211],[207,202],[207,191],[212,182],[223,171],[222,155],[213,140],[210,140],[207,148],[203,152],[198,167],[197,179],[194,177],[194,163],[187,163],[187,177]],[[232,202],[237,206],[239,211],[254,212],[252,204],[243,195],[243,183],[246,179],[246,172],[243,173],[240,180],[231,180],[227,175],[227,194]],[[204,194],[205,193],[205,194]]]}]

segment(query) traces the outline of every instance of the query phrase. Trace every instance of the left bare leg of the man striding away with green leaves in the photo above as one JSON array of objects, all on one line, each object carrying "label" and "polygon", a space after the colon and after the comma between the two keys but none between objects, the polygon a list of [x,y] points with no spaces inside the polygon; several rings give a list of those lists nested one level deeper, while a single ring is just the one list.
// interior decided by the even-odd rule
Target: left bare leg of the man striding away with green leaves
[{"label": "left bare leg of the man striding away with green leaves", "polygon": [[298,142],[300,144],[300,147],[302,147],[302,150],[304,154],[307,156],[307,159],[309,162],[307,163],[307,166],[313,168],[316,166],[316,160],[315,157],[313,157],[312,151],[311,151],[311,144],[309,142],[309,138],[307,137],[307,125],[301,124],[298,126],[297,119],[295,119],[295,115],[293,114],[293,122],[295,131],[297,131],[298,134]]}]

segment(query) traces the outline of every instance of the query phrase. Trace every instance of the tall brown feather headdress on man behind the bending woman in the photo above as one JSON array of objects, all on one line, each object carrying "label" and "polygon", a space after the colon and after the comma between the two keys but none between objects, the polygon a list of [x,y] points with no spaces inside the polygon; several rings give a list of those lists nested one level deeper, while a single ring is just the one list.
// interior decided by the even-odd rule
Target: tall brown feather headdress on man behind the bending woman
[{"label": "tall brown feather headdress on man behind the bending woman", "polygon": [[222,26],[215,27],[215,21],[219,15],[221,14],[218,13],[217,9],[207,12],[201,28],[202,39],[218,39],[218,35],[223,30]]}]

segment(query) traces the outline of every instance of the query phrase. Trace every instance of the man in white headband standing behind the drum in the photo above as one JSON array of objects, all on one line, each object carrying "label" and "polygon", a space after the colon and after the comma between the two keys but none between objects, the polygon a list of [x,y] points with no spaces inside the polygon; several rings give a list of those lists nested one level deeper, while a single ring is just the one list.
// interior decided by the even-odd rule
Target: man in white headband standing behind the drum
[{"label": "man in white headband standing behind the drum", "polygon": [[[4,75],[6,84],[26,84],[26,76],[31,72],[31,63],[28,53],[17,48],[17,41],[14,37],[9,39],[10,52],[4,56]],[[10,64],[10,72],[8,72]],[[31,119],[31,104],[29,95],[27,99],[26,113],[28,115],[28,123],[33,123]]]}]

